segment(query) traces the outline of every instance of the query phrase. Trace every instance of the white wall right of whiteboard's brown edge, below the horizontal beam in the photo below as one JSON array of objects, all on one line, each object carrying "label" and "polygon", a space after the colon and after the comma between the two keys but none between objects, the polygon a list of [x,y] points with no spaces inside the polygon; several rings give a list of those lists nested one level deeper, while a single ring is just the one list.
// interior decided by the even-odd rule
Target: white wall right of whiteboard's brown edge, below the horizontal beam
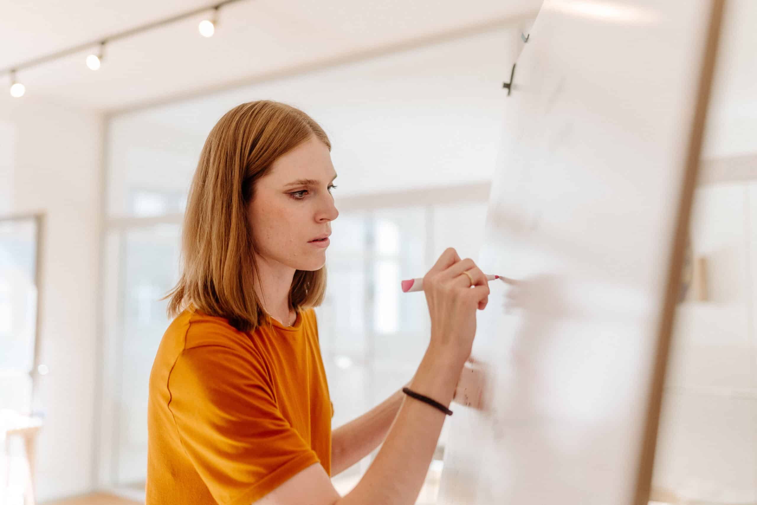
[{"label": "white wall right of whiteboard's brown edge, below the horizontal beam", "polygon": [[653,499],[757,500],[755,196],[755,182],[696,190],[691,244],[693,256],[706,262],[706,296],[678,306]]}]

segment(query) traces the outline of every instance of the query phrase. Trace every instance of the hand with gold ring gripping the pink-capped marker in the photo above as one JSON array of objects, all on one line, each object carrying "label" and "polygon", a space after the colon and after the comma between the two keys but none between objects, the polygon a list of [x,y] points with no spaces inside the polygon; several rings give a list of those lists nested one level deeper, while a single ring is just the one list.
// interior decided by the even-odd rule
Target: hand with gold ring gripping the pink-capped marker
[{"label": "hand with gold ring gripping the pink-capped marker", "polygon": [[[467,272],[471,279],[463,273]],[[471,354],[476,309],[489,301],[489,284],[473,260],[460,260],[453,248],[444,251],[423,277],[428,313],[431,315],[429,350],[463,363]]]}]

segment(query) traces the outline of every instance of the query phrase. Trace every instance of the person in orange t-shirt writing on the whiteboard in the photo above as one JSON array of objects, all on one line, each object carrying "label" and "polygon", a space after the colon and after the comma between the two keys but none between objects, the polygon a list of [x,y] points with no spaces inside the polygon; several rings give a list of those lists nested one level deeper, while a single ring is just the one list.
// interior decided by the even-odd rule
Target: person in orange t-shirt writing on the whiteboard
[{"label": "person in orange t-shirt writing on the whiteboard", "polygon": [[[444,251],[424,277],[431,341],[407,401],[397,391],[332,433],[313,310],[339,214],[330,149],[307,114],[274,101],[239,105],[208,135],[150,376],[148,505],[416,500],[489,288]],[[382,442],[340,497],[329,476]]]}]

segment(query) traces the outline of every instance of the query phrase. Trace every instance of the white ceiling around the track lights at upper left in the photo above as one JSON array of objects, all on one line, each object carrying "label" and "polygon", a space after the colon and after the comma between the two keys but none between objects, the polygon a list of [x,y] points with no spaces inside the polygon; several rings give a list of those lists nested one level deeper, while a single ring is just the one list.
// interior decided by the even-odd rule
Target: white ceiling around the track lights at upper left
[{"label": "white ceiling around the track lights at upper left", "polygon": [[[107,45],[96,72],[84,64],[91,51],[83,51],[19,71],[17,79],[30,98],[122,111],[475,32],[533,14],[540,4],[242,0],[221,9],[210,39],[198,33],[199,15]],[[3,2],[0,69],[209,5],[208,0]]]}]

